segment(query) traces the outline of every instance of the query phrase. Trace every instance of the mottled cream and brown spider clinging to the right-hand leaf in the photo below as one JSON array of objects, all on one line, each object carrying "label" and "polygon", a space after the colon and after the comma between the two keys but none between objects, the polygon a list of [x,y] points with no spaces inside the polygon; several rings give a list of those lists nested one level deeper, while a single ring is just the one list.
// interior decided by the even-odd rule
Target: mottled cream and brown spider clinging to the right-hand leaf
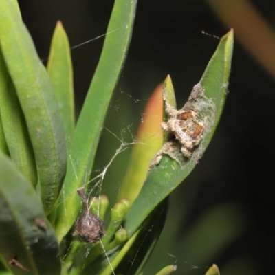
[{"label": "mottled cream and brown spider clinging to the right-hand leaf", "polygon": [[[166,122],[162,122],[162,129],[168,133],[168,140],[164,142],[162,149],[155,155],[149,166],[149,170],[153,169],[162,160],[162,155],[169,155],[179,164],[182,164],[184,157],[190,159],[194,151],[194,147],[198,146],[203,136],[207,132],[207,117],[204,117],[206,110],[213,113],[210,122],[214,121],[214,106],[212,102],[204,96],[204,89],[200,83],[195,85],[190,94],[188,101],[181,109],[177,110],[167,100],[167,94],[163,94],[165,103],[165,112],[167,115]],[[203,120],[201,119],[203,116]],[[212,124],[211,124],[212,125]],[[201,156],[199,154],[199,156]],[[197,156],[198,157],[198,156]],[[198,157],[199,159],[199,157]]]}]

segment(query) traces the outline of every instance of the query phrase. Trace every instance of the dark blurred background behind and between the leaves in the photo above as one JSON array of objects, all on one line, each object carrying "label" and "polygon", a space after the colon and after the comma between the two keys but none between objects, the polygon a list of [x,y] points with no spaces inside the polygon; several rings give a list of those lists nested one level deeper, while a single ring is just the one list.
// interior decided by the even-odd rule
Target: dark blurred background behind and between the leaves
[{"label": "dark blurred background behind and between the leaves", "polygon": [[[275,2],[252,2],[272,25]],[[75,46],[106,32],[113,7],[109,0],[19,0],[19,4],[41,59],[49,54],[57,20]],[[184,105],[219,43],[202,30],[216,36],[228,32],[205,1],[138,2],[128,58],[106,120],[108,129],[131,141],[146,100],[167,74],[178,107]],[[96,39],[72,50],[78,111],[103,42],[104,38]],[[219,265],[222,275],[275,274],[275,85],[238,41],[229,91],[206,154],[171,196],[168,221],[145,274],[172,263],[178,265],[176,274],[204,274],[212,263]],[[95,170],[102,170],[119,144],[103,131]],[[129,153],[118,157],[103,183],[111,204]]]}]

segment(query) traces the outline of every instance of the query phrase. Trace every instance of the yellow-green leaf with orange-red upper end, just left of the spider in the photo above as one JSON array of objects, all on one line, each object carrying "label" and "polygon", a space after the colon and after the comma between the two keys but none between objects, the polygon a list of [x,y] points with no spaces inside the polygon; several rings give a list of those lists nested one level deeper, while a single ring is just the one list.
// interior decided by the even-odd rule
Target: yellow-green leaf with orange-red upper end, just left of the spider
[{"label": "yellow-green leaf with orange-red upper end, just left of the spider", "polygon": [[155,88],[144,109],[118,200],[127,198],[133,203],[146,179],[151,159],[162,148],[162,86],[161,83]]}]

